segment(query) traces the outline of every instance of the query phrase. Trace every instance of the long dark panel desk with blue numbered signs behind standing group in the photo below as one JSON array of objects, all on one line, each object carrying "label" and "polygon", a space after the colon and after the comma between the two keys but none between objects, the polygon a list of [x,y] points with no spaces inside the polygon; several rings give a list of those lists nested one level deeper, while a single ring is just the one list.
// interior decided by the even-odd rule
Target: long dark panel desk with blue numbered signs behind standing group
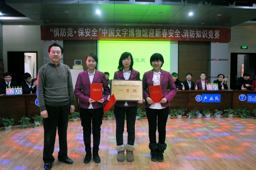
[{"label": "long dark panel desk with blue numbered signs behind standing group", "polygon": [[[202,102],[196,100],[196,97],[204,94],[220,94],[220,102]],[[247,101],[250,97],[251,101]],[[203,98],[202,98],[203,99]],[[0,117],[14,118],[15,125],[21,117],[34,117],[35,114],[40,115],[39,106],[35,104],[36,94],[22,94],[14,96],[0,96]],[[238,107],[250,111],[254,116],[253,109],[256,109],[256,92],[249,90],[218,90],[218,91],[202,91],[202,90],[179,90],[172,99],[170,109],[187,109],[186,113],[191,110],[215,109],[224,111],[232,108],[236,110]],[[76,98],[76,110],[79,111],[79,99]],[[110,109],[113,110],[114,106]],[[138,108],[145,111],[144,103],[138,104]],[[0,127],[3,127],[1,124]]]}]

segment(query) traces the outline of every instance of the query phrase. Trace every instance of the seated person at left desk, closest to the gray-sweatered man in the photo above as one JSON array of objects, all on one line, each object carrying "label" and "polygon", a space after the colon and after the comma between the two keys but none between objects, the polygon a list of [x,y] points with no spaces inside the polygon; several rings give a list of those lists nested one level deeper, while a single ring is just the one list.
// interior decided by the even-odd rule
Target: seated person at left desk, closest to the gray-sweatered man
[{"label": "seated person at left desk, closest to the gray-sweatered man", "polygon": [[23,74],[24,80],[20,82],[20,86],[22,86],[23,94],[31,94],[36,93],[36,81],[32,80],[30,73]]}]

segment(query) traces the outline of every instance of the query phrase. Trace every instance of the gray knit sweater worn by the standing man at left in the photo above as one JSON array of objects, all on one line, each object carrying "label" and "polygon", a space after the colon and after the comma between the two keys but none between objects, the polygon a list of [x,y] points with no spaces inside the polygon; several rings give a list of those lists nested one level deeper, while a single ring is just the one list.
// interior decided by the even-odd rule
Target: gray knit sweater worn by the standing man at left
[{"label": "gray knit sweater worn by the standing man at left", "polygon": [[67,65],[48,63],[38,72],[36,89],[40,111],[48,106],[75,105],[75,96],[70,69]]}]

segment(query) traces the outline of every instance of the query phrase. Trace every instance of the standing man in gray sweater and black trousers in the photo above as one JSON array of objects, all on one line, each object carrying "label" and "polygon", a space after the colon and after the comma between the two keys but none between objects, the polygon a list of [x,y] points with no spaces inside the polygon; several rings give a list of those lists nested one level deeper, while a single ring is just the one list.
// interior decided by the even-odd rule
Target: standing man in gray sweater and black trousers
[{"label": "standing man in gray sweater and black trousers", "polygon": [[69,113],[75,111],[75,96],[71,71],[60,63],[63,47],[53,43],[48,47],[51,63],[44,65],[38,72],[37,96],[40,114],[44,118],[44,169],[51,169],[55,160],[53,157],[56,129],[59,135],[59,161],[72,164],[68,157],[67,128]]}]

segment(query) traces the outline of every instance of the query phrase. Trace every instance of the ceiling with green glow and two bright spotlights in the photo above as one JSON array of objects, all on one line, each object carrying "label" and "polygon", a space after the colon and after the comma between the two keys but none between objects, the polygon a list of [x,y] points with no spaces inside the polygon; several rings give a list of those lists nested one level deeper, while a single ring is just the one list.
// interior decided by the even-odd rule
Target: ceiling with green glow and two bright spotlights
[{"label": "ceiling with green glow and two bright spotlights", "polygon": [[[201,0],[204,4],[180,2],[135,2],[122,1],[69,1],[69,0],[5,0],[18,11],[23,20],[5,19],[8,22],[30,22],[48,25],[115,25],[115,26],[189,26],[230,28],[238,24],[254,24],[256,3],[252,7],[212,5],[213,0]],[[174,0],[173,0],[174,1]],[[179,0],[177,0],[179,1]],[[190,0],[194,1],[194,0]],[[199,1],[199,0],[195,0]],[[216,1],[216,0],[215,0]],[[220,0],[218,0],[220,1]],[[229,1],[229,0],[221,0]],[[251,0],[249,0],[251,1]],[[101,10],[101,15],[96,10]],[[1,10],[1,6],[0,6]],[[188,16],[193,12],[193,16]]]}]

